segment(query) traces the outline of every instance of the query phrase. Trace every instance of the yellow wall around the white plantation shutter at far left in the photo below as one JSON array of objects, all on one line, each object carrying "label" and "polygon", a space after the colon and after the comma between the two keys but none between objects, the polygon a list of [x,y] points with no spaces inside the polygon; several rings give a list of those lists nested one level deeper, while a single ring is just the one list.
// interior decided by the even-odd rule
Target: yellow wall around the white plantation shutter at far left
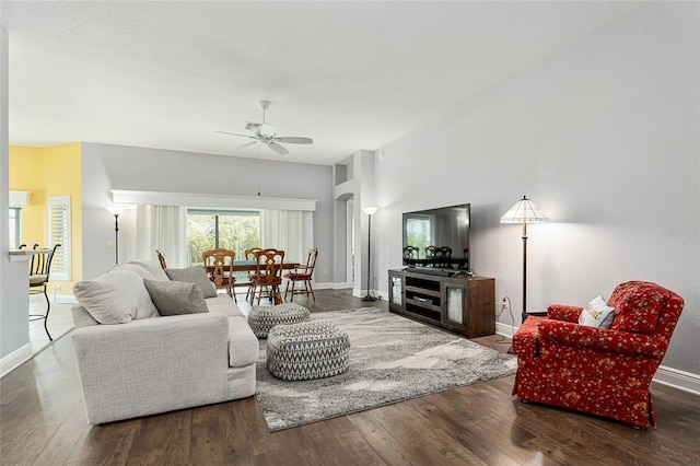
[{"label": "yellow wall around the white plantation shutter at far left", "polygon": [[[32,193],[31,205],[22,208],[22,242],[48,246],[47,199],[70,196],[71,202],[71,281],[51,280],[49,290],[61,286],[60,294],[71,294],[82,279],[82,190],[81,144],[25,148],[10,145],[10,190]],[[51,284],[54,287],[51,287]]]}]

